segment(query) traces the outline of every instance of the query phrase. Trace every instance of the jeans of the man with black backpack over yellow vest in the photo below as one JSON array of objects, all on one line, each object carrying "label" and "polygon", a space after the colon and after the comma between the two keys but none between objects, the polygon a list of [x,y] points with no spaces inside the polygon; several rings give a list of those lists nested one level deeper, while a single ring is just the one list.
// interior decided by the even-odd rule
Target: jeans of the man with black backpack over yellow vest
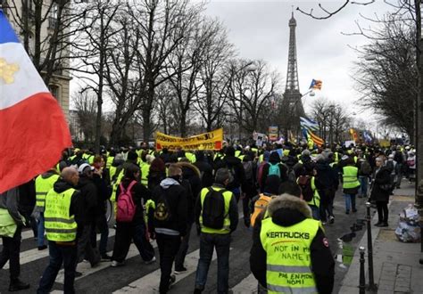
[{"label": "jeans of the man with black backpack over yellow vest", "polygon": [[218,293],[228,293],[229,289],[229,233],[201,233],[200,260],[195,275],[195,288],[204,289],[207,274],[216,248],[218,255]]}]

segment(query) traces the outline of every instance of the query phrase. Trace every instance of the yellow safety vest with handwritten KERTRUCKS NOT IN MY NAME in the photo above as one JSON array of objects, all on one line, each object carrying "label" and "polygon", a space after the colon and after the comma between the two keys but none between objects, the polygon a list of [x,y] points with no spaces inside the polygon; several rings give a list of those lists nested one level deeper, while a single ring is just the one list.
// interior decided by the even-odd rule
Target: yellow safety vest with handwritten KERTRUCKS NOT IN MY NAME
[{"label": "yellow safety vest with handwritten KERTRUCKS NOT IN MY NAME", "polygon": [[306,218],[288,227],[271,218],[261,221],[260,239],[267,253],[266,281],[269,293],[318,293],[311,271],[311,242],[319,221]]}]

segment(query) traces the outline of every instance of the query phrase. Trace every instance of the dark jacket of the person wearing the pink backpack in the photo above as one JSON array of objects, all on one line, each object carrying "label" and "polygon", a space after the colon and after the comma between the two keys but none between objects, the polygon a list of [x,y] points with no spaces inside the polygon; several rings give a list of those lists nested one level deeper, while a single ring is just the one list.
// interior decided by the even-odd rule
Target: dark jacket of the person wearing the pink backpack
[{"label": "dark jacket of the person wearing the pink backpack", "polygon": [[[132,179],[129,178],[123,178],[120,184],[122,184],[124,189],[127,189],[129,187],[129,184],[132,182]],[[144,203],[147,200],[150,200],[151,198],[151,192],[143,184],[140,184],[137,182],[137,184],[134,184],[131,189],[131,195],[132,200],[134,201],[134,204],[136,205],[135,210],[135,216],[132,219],[133,224],[140,224],[144,223],[144,208],[143,208],[143,201]],[[116,202],[119,200],[120,196],[120,185],[118,186],[118,189],[116,190]]]}]

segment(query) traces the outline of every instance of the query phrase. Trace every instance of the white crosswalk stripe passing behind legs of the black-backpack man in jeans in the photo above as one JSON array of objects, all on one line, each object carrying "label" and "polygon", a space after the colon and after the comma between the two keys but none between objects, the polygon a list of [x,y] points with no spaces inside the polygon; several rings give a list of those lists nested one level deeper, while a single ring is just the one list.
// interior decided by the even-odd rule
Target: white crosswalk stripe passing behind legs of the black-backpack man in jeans
[{"label": "white crosswalk stripe passing behind legs of the black-backpack man in jeans", "polygon": [[[232,249],[232,248],[231,248]],[[196,272],[198,259],[200,257],[200,249],[196,249],[195,251],[191,252],[190,254],[185,257],[185,264],[187,265],[187,272],[184,274],[177,274],[176,278],[178,283],[186,278],[188,275],[193,274]],[[211,257],[211,261],[217,258],[216,251],[213,251],[213,256]],[[155,270],[150,274],[146,274],[144,277],[131,282],[128,286],[116,290],[114,294],[120,293],[158,293],[159,291],[159,282],[160,282],[160,269]],[[175,286],[174,286],[175,287]],[[173,289],[173,287],[172,287]]]}]

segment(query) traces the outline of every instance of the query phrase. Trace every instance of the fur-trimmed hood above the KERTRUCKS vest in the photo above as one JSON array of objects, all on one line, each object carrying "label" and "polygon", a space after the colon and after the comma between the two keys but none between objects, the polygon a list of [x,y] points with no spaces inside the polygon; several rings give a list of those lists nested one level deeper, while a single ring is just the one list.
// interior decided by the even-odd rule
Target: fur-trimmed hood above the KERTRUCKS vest
[{"label": "fur-trimmed hood above the KERTRUCKS vest", "polygon": [[273,198],[268,206],[272,222],[277,225],[290,226],[311,218],[311,208],[304,200],[288,194]]}]

